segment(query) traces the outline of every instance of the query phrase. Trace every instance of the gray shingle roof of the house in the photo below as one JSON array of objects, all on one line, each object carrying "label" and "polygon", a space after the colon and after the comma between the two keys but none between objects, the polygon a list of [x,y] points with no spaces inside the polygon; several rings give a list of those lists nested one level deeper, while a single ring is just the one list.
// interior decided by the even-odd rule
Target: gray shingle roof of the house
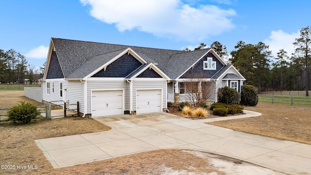
[{"label": "gray shingle roof of the house", "polygon": [[[60,38],[52,38],[52,42],[65,78],[83,78],[131,48],[148,63],[157,63],[160,70],[170,78],[176,79],[209,50],[187,52]],[[228,65],[225,68],[228,68]],[[213,77],[220,76],[223,69]]]}]

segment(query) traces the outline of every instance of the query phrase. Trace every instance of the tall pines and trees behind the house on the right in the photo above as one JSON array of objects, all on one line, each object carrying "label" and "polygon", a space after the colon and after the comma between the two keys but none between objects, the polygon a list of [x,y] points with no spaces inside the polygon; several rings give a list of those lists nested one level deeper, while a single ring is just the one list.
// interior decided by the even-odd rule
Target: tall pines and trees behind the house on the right
[{"label": "tall pines and trees behind the house on the right", "polygon": [[[201,43],[194,50],[204,49]],[[258,91],[310,90],[311,27],[300,30],[293,43],[294,53],[280,49],[274,57],[263,42],[247,44],[239,41],[227,60],[246,78],[244,84],[253,85]],[[227,58],[226,46],[215,41],[210,45],[222,58]],[[184,51],[190,51],[186,48]]]}]

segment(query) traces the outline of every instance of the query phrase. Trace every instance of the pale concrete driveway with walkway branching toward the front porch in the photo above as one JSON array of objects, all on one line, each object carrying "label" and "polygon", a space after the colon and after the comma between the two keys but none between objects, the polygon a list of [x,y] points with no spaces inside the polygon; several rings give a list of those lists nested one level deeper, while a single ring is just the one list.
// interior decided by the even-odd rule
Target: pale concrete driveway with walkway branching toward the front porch
[{"label": "pale concrete driveway with walkway branching toward the front porch", "polygon": [[259,116],[190,120],[169,113],[117,115],[96,120],[109,131],[35,140],[52,166],[66,167],[164,148],[204,151],[233,157],[291,175],[311,174],[311,145],[276,140],[205,122]]}]

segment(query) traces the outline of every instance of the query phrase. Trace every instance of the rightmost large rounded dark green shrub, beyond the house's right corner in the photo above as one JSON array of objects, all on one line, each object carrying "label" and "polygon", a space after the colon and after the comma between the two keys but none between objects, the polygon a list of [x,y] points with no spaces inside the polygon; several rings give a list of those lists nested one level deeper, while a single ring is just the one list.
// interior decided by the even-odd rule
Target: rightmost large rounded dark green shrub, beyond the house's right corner
[{"label": "rightmost large rounded dark green shrub, beyond the house's right corner", "polygon": [[256,106],[258,104],[258,95],[255,87],[252,85],[243,85],[241,90],[241,105]]}]

